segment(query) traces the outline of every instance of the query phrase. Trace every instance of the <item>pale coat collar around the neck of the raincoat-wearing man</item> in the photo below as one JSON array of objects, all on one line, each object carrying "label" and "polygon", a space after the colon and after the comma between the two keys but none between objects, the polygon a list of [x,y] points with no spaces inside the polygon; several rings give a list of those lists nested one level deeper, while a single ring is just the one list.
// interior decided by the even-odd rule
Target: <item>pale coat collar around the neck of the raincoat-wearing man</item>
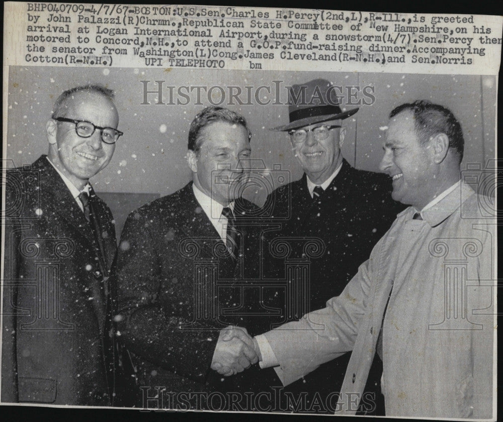
[{"label": "pale coat collar around the neck of the raincoat-wearing man", "polygon": [[[421,217],[431,227],[435,227],[453,214],[461,206],[461,202],[474,193],[469,185],[459,180],[428,203],[421,210]],[[410,209],[412,213],[416,212],[414,207]]]}]

